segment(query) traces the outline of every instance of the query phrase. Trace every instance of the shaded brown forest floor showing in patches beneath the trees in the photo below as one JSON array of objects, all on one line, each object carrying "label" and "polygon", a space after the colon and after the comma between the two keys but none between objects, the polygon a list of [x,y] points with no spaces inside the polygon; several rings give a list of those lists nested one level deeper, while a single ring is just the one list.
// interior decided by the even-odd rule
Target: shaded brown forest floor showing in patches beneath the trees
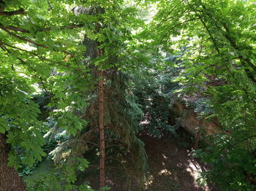
[{"label": "shaded brown forest floor showing in patches beneath the trees", "polygon": [[[196,179],[201,171],[206,171],[207,166],[191,157],[189,147],[192,142],[184,132],[182,136],[172,135],[156,139],[146,133],[140,135],[140,139],[145,143],[148,155],[148,180],[145,184],[147,191],[216,191],[208,185],[201,187]],[[51,168],[51,169],[50,169]],[[43,160],[33,174],[25,177],[29,179],[42,171],[53,173],[53,163]],[[107,172],[107,184],[111,191],[126,191],[124,179],[121,178],[120,171],[112,170]],[[95,168],[89,168],[87,173],[80,176],[79,183],[83,180],[90,182],[91,187],[99,185],[98,172]],[[78,184],[79,184],[78,183]],[[136,190],[136,189],[135,189]]]}]

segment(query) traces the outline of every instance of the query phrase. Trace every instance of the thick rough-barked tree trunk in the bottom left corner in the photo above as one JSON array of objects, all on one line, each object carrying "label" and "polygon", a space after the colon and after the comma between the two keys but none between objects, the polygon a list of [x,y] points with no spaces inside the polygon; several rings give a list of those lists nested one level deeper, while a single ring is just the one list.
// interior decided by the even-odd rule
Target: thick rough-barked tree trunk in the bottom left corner
[{"label": "thick rough-barked tree trunk in the bottom left corner", "polygon": [[18,171],[7,166],[8,146],[6,136],[0,134],[0,191],[25,191],[26,183],[18,175]]}]

